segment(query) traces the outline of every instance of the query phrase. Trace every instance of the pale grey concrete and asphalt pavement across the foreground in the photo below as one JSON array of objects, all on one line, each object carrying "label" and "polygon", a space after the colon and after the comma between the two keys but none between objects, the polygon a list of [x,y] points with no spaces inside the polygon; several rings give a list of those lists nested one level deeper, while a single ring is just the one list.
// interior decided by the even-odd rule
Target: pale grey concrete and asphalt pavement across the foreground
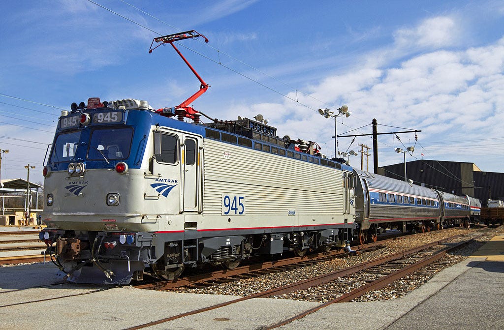
[{"label": "pale grey concrete and asphalt pavement across the foreground", "polygon": [[[502,237],[504,239],[504,237]],[[501,238],[495,237],[499,243]],[[487,243],[487,244],[488,244]],[[334,304],[281,329],[501,329],[504,328],[504,246],[491,243],[437,274],[403,298]],[[482,251],[485,251],[483,254]],[[56,268],[0,268],[0,329],[123,329],[237,297],[156,292],[132,287],[62,284]],[[43,300],[81,293],[80,296]],[[29,304],[25,301],[41,300]],[[149,329],[260,329],[317,303],[253,299],[187,316]]]}]

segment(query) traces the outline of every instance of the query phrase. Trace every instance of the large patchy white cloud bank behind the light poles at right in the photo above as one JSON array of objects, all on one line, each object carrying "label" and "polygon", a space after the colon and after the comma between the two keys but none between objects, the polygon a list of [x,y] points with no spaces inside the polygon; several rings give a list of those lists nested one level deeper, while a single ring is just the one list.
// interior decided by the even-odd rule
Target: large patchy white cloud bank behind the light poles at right
[{"label": "large patchy white cloud bank behind the light poles at right", "polygon": [[[319,100],[334,108],[348,102],[353,114],[338,119],[338,134],[350,130],[346,125],[358,127],[376,118],[382,124],[422,130],[418,134],[420,143],[504,136],[497,124],[504,120],[504,38],[481,47],[449,49],[459,38],[455,22],[451,17],[427,19],[415,28],[398,31],[395,47],[368,55],[385,58],[394,54],[392,59],[401,58],[415,47],[423,48],[420,54],[395,65],[386,60],[368,61],[306,87],[308,96],[295,92],[288,96],[312,109],[325,106]],[[275,120],[271,124],[278,127],[279,136],[289,134],[291,138],[317,141],[328,155],[334,150],[333,121],[291,100],[284,100],[272,112]],[[384,126],[379,129],[394,130]],[[354,133],[370,133],[370,127]],[[401,146],[395,137],[380,136],[379,140],[381,164],[402,161],[391,148]],[[402,141],[414,144],[414,135],[402,135]],[[350,139],[339,139],[339,148],[346,150],[349,143]],[[370,138],[359,138],[352,148],[357,143],[372,142]],[[428,156],[432,150],[437,159],[476,163],[481,157],[475,155],[486,157],[488,153],[488,149],[474,149],[469,154],[460,148],[445,148],[439,154],[438,147],[429,145],[424,152]],[[420,158],[419,154],[416,156]],[[486,170],[499,166],[488,164],[493,169]]]}]

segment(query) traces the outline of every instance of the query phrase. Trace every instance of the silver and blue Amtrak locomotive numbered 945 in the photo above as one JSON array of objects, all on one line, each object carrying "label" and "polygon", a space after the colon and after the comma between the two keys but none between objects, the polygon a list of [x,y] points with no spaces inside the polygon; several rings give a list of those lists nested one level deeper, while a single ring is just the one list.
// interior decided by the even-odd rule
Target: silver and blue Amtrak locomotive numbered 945
[{"label": "silver and blue Amtrak locomotive numbered 945", "polygon": [[248,123],[245,135],[230,133],[133,99],[93,98],[62,112],[40,234],[60,275],[128,284],[146,270],[173,279],[184,267],[232,269],[253,254],[352,240],[353,169]]}]

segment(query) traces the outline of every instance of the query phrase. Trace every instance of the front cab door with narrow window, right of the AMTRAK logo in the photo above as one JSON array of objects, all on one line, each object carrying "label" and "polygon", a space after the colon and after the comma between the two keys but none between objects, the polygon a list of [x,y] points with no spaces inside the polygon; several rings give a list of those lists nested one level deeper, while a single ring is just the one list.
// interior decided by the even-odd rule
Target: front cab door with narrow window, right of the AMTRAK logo
[{"label": "front cab door with narrow window, right of the AMTRAK logo", "polygon": [[183,135],[181,143],[180,178],[183,189],[180,201],[182,212],[199,212],[201,205],[201,139],[195,136]]}]

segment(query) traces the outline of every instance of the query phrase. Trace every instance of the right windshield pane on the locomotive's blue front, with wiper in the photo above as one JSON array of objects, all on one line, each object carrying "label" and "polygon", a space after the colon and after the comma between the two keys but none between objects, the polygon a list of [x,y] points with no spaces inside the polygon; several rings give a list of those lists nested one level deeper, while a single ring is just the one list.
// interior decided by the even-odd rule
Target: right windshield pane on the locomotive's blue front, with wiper
[{"label": "right windshield pane on the locomotive's blue front, with wiper", "polygon": [[118,160],[130,157],[133,128],[95,129],[91,134],[88,160]]}]

